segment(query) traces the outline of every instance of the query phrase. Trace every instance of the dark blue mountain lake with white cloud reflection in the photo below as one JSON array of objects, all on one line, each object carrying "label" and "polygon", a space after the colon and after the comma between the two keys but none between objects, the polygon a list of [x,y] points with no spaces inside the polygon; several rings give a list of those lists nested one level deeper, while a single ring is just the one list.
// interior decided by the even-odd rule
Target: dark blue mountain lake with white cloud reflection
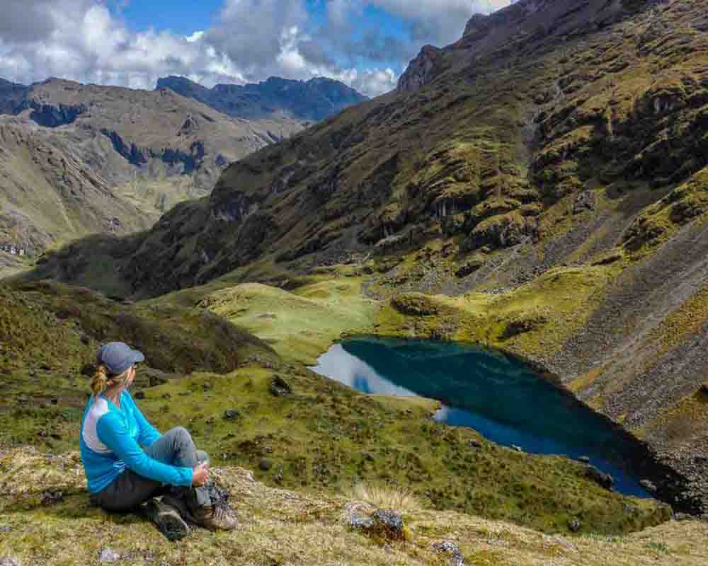
[{"label": "dark blue mountain lake with white cloud reflection", "polygon": [[431,340],[355,338],[322,355],[319,374],[379,395],[420,395],[444,403],[436,420],[535,454],[588,456],[615,489],[649,497],[624,469],[627,437],[572,395],[501,352]]}]

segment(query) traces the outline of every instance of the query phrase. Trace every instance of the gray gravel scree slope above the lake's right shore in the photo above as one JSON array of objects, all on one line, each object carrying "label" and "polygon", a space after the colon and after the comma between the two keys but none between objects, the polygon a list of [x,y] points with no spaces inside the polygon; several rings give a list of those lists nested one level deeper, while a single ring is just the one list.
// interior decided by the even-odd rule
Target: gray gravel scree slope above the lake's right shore
[{"label": "gray gravel scree slope above the lake's right shore", "polygon": [[[601,367],[579,393],[600,410],[641,431],[708,374],[708,325],[657,359],[651,333],[708,283],[708,226],[689,225],[650,258],[618,277],[588,323],[544,364],[566,383]],[[652,429],[646,437],[661,460],[690,480],[708,512],[708,422],[690,430]]]}]

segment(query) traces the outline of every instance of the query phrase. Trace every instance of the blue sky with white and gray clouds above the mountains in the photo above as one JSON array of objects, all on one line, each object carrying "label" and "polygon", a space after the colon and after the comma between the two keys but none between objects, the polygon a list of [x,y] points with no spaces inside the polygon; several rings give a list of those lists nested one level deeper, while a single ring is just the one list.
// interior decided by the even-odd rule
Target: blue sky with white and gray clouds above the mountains
[{"label": "blue sky with white and gray clouds above the mountains", "polygon": [[510,0],[3,0],[0,77],[154,88],[329,76],[377,96]]}]

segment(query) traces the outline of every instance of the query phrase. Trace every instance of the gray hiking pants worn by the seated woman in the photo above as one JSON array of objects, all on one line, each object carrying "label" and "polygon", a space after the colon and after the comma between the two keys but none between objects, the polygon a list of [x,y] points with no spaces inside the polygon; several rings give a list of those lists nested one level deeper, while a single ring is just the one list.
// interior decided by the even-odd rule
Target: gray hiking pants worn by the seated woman
[{"label": "gray hiking pants worn by the seated woman", "polygon": [[[171,429],[144,450],[150,458],[171,466],[194,468],[209,461],[207,453],[197,450],[189,432],[183,427]],[[91,500],[106,511],[125,512],[157,495],[163,487],[158,481],[143,478],[126,469],[103,491],[93,494]],[[185,497],[192,510],[210,504],[206,487],[175,487],[173,490]]]}]

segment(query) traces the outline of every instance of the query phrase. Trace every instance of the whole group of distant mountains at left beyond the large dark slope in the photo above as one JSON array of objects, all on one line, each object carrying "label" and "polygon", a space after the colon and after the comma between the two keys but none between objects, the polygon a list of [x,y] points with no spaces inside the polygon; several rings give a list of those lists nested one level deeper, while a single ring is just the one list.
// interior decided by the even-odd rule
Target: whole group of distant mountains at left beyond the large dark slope
[{"label": "whole group of distant mountains at left beyond the large dark slope", "polygon": [[[258,110],[231,112],[244,120],[166,85],[149,92],[1,81],[0,239],[34,253],[87,233],[147,229],[177,202],[208,195],[232,161],[362,98],[326,79],[292,82],[263,83]],[[234,96],[251,100],[244,88]],[[240,104],[227,98],[213,105]]]}]

